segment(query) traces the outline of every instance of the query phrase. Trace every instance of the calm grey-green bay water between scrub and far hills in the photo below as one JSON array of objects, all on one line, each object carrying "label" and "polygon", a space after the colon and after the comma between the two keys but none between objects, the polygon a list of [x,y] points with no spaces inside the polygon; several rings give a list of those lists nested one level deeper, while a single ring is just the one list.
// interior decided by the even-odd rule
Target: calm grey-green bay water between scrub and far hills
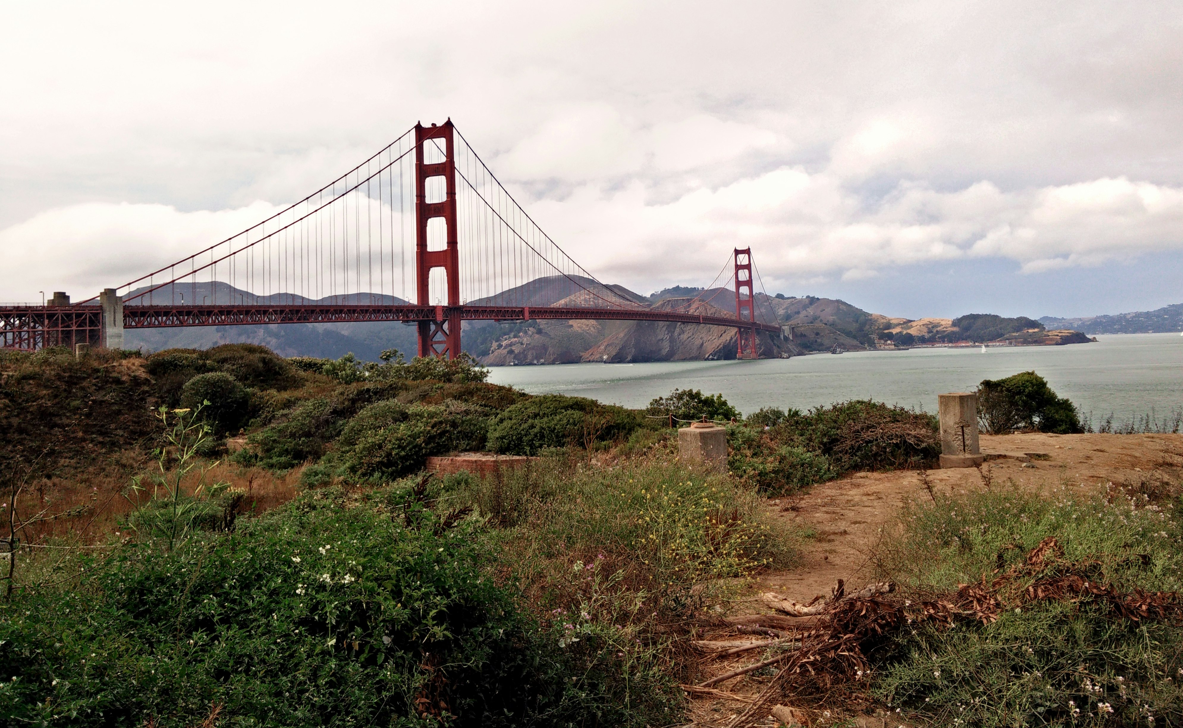
[{"label": "calm grey-green bay water between scrub and far hills", "polygon": [[1183,407],[1183,336],[1098,336],[1090,344],[911,349],[817,353],[748,362],[653,362],[494,366],[490,382],[531,394],[592,397],[646,407],[674,388],[722,394],[744,414],[762,407],[808,409],[845,399],[937,410],[940,392],[970,391],[982,379],[1034,370],[1095,423]]}]

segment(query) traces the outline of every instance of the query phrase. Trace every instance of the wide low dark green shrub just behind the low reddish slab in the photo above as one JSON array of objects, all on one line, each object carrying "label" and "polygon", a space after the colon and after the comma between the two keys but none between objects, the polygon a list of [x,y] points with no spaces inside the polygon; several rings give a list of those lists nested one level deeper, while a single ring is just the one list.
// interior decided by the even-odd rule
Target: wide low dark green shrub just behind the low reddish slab
[{"label": "wide low dark green shrub just behind the low reddish slab", "polygon": [[489,449],[536,455],[544,448],[589,447],[627,437],[641,427],[640,417],[622,407],[584,397],[541,395],[497,415],[489,428]]}]

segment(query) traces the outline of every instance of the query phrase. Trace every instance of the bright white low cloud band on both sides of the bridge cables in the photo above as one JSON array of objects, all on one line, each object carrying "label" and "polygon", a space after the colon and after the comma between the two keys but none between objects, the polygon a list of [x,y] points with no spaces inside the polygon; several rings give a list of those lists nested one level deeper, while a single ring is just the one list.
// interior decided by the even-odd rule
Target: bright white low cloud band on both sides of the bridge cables
[{"label": "bright white low cloud band on both sides of the bridge cables", "polygon": [[[988,182],[949,193],[912,183],[871,206],[838,176],[800,168],[668,203],[651,202],[647,191],[640,182],[586,184],[531,212],[584,267],[638,288],[654,280],[705,285],[732,248],[749,246],[765,284],[858,281],[893,266],[987,258],[1039,273],[1183,249],[1183,189],[1125,178],[1014,193]],[[15,298],[35,298],[46,286],[90,294],[277,209],[266,202],[193,213],[84,203],[0,230],[0,249],[13,269],[32,272],[9,284]]]}]

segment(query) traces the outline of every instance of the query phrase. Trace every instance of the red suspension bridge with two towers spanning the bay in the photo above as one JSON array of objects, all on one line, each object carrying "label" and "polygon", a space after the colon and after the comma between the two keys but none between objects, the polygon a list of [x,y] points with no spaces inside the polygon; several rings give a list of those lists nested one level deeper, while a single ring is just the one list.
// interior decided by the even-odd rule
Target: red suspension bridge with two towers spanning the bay
[{"label": "red suspension bridge with two towers spanning the bay", "polygon": [[188,258],[80,303],[56,293],[0,306],[0,347],[116,349],[127,329],[402,321],[419,329],[419,356],[454,358],[464,320],[623,319],[729,326],[737,356],[756,358],[759,334],[781,327],[757,320],[751,249],[730,262],[733,317],[699,299],[653,305],[605,285],[538,227],[451,121],[416,124]]}]

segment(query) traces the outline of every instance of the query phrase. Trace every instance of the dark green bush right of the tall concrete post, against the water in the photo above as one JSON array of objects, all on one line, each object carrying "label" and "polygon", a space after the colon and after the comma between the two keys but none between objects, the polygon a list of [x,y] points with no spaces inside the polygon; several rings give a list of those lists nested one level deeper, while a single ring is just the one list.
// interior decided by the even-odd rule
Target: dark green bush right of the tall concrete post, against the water
[{"label": "dark green bush right of the tall concrete post, against the water", "polygon": [[977,418],[982,429],[991,435],[1014,430],[1060,435],[1084,431],[1072,402],[1058,397],[1047,379],[1034,371],[1004,379],[982,379],[977,388]]}]

